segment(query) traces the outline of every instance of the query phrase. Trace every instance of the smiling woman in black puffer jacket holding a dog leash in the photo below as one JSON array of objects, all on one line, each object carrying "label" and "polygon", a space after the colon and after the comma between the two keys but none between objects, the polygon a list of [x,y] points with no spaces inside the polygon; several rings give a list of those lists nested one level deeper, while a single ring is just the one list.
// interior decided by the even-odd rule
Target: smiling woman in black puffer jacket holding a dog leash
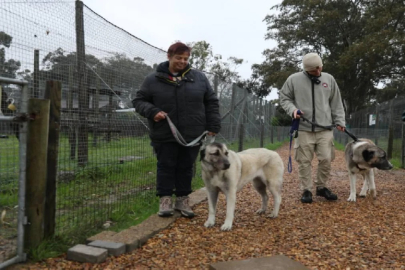
[{"label": "smiling woman in black puffer jacket holding a dog leash", "polygon": [[[206,76],[191,69],[191,48],[177,42],[169,47],[168,61],[149,74],[132,101],[136,111],[148,118],[151,145],[157,156],[157,196],[159,216],[168,217],[174,209],[185,217],[194,213],[189,206],[193,164],[199,146],[185,147],[174,138],[166,115],[183,138],[190,142],[204,131],[214,136],[221,128],[218,98]],[[172,195],[176,196],[173,209]]]}]

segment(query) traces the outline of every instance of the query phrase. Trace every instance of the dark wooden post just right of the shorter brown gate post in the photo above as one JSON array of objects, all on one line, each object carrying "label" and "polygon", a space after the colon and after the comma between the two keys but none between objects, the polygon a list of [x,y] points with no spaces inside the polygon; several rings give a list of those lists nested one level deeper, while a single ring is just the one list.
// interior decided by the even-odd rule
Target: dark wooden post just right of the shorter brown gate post
[{"label": "dark wooden post just right of the shorter brown gate post", "polygon": [[56,177],[58,168],[58,148],[60,131],[60,106],[62,84],[59,81],[47,81],[45,99],[50,100],[49,108],[49,134],[48,134],[48,157],[46,174],[46,201],[44,230],[45,237],[55,234],[56,224]]}]

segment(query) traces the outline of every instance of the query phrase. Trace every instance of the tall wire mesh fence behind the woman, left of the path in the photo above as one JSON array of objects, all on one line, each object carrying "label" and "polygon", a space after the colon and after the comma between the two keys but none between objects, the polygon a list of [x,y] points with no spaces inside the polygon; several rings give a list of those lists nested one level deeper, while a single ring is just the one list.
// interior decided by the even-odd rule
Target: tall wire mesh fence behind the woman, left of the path
[{"label": "tall wire mesh fence behind the woman, left of the path", "polygon": [[[131,100],[166,52],[80,1],[2,1],[0,24],[0,76],[28,81],[34,98],[44,98],[49,80],[62,85],[55,234],[86,234],[128,213],[135,223],[155,211],[156,159],[146,121]],[[242,150],[288,137],[288,127],[271,125],[275,109],[268,101],[206,75],[220,99],[217,141]],[[15,115],[21,91],[1,86],[3,113]],[[18,205],[17,136],[15,126],[0,123],[0,211],[7,211],[2,244],[17,234],[10,225]],[[193,186],[202,186],[198,165]],[[2,248],[0,262],[10,257]]]}]

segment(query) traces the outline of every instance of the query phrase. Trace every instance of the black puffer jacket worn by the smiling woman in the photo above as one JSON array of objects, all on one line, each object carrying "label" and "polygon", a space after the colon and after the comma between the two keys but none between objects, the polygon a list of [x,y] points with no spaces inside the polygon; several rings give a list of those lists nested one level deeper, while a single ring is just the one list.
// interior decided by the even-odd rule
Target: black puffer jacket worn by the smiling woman
[{"label": "black puffer jacket worn by the smiling woman", "polygon": [[148,118],[153,142],[176,141],[166,119],[153,121],[160,111],[169,114],[187,142],[205,130],[218,133],[221,129],[218,98],[207,77],[189,66],[177,76],[176,81],[169,71],[168,61],[161,63],[145,78],[132,101],[136,111]]}]

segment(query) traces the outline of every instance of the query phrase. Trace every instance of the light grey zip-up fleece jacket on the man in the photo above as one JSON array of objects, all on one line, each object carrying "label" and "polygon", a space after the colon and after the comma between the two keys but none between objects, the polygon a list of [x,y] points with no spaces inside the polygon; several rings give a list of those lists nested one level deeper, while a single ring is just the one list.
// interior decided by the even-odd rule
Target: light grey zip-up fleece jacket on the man
[{"label": "light grey zip-up fleece jacket on the man", "polygon": [[[322,126],[345,127],[345,111],[339,87],[332,75],[322,72],[316,84],[306,72],[292,74],[280,91],[280,105],[292,115],[295,109],[304,112],[304,117]],[[299,130],[322,131],[308,122],[300,121]]]}]

